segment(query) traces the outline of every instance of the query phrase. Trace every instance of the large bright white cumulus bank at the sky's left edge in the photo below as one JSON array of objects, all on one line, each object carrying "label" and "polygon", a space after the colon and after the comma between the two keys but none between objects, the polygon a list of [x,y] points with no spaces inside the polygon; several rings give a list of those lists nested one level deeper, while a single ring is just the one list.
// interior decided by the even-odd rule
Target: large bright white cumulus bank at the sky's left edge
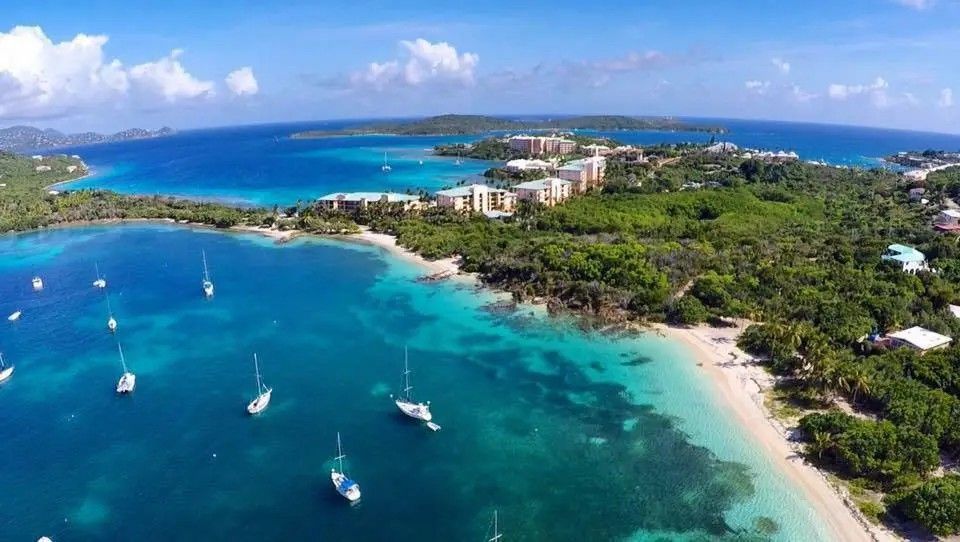
[{"label": "large bright white cumulus bank at the sky's left edge", "polygon": [[[77,34],[54,42],[38,26],[0,32],[0,118],[55,118],[129,104],[150,107],[215,93],[213,82],[194,77],[183,66],[180,49],[128,68],[107,59],[108,41],[105,35]],[[250,94],[249,81],[241,82]]]}]

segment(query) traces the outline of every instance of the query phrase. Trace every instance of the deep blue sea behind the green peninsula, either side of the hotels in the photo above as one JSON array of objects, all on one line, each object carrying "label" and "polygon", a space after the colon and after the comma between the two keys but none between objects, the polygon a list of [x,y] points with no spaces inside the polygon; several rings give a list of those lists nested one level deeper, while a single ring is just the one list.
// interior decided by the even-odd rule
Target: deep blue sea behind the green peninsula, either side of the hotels
[{"label": "deep blue sea behind the green peninsula, either side of the hotels", "polygon": [[[794,150],[805,160],[877,167],[902,150],[960,150],[960,135],[773,121],[691,119],[721,124],[716,136],[740,146]],[[434,191],[494,163],[432,156],[438,143],[471,137],[348,136],[293,140],[293,132],[336,128],[344,122],[273,124],[191,130],[171,137],[75,147],[95,175],[73,187],[124,193],[168,194],[258,205],[287,205],[338,191]],[[708,142],[711,134],[689,132],[601,132],[630,144]],[[383,155],[393,168],[381,171]],[[422,164],[420,162],[423,162]]]}]

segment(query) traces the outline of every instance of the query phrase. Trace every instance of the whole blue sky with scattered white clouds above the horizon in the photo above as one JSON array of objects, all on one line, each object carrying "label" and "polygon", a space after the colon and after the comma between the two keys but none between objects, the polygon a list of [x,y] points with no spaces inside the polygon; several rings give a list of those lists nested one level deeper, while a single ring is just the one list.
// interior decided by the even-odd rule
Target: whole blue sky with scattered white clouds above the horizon
[{"label": "whole blue sky with scattered white clouds above the horizon", "polygon": [[960,132],[958,0],[43,4],[0,11],[0,126],[622,113]]}]

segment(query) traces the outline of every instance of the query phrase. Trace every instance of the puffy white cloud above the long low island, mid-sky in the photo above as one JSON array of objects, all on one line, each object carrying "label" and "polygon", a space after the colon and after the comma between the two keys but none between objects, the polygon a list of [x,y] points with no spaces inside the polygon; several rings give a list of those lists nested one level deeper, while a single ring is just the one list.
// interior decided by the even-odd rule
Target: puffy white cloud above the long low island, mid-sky
[{"label": "puffy white cloud above the long low island, mid-sky", "polygon": [[472,85],[474,69],[480,62],[475,53],[459,54],[447,42],[431,43],[423,38],[401,41],[402,58],[371,62],[366,70],[350,75],[354,86],[383,89],[388,86],[420,86],[431,82]]}]

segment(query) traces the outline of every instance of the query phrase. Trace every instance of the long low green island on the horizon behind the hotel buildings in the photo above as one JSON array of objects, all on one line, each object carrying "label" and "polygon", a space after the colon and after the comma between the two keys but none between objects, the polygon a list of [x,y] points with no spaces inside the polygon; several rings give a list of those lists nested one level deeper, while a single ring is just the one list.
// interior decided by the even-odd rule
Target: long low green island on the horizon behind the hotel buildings
[{"label": "long low green island on the horizon behind the hotel buildings", "polygon": [[722,126],[690,124],[670,117],[628,117],[589,115],[548,120],[512,120],[484,115],[440,115],[419,120],[370,122],[338,130],[307,130],[291,134],[293,139],[335,135],[477,135],[496,131],[531,130],[667,130],[722,134]]}]

